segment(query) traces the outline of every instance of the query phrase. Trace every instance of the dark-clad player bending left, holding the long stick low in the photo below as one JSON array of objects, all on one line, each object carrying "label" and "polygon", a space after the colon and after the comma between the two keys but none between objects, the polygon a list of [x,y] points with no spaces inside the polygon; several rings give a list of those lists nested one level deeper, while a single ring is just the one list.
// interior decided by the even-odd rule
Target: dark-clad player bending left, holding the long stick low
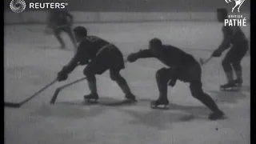
[{"label": "dark-clad player bending left, holding the long stick low", "polygon": [[129,101],[135,102],[135,96],[131,93],[126,80],[121,76],[120,70],[124,69],[123,55],[120,50],[110,42],[96,36],[87,36],[86,28],[77,26],[74,28],[74,36],[79,42],[74,58],[58,73],[58,81],[66,80],[67,75],[78,65],[87,65],[83,70],[86,75],[90,94],[85,95],[85,100],[98,100],[96,74],[102,74],[110,70],[110,78],[118,83]]}]

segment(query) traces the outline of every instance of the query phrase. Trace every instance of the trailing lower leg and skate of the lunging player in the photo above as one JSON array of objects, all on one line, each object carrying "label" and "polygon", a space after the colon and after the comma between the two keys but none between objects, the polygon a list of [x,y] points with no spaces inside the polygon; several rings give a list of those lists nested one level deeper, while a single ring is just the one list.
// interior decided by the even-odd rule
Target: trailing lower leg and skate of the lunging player
[{"label": "trailing lower leg and skate of the lunging player", "polygon": [[222,118],[224,113],[219,110],[218,106],[212,98],[202,90],[202,82],[194,81],[190,82],[190,91],[194,98],[197,98],[200,102],[206,105],[213,113],[209,115],[209,119]]}]

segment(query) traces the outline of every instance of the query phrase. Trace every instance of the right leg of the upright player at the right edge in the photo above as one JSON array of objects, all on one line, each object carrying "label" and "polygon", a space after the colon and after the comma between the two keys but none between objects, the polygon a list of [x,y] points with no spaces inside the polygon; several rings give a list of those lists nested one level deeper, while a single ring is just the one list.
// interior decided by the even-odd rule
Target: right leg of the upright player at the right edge
[{"label": "right leg of the upright player at the right edge", "polygon": [[242,85],[242,58],[245,57],[246,52],[248,50],[248,43],[244,42],[241,44],[241,47],[238,47],[238,50],[234,51],[233,59],[231,61],[231,64],[234,68],[235,74],[237,76],[237,79],[234,80],[234,83],[237,86]]}]

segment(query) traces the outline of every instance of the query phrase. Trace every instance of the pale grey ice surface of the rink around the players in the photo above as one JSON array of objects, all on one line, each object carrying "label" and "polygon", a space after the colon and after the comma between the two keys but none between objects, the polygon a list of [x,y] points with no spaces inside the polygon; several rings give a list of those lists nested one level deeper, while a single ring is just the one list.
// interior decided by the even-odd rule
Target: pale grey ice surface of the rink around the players
[{"label": "pale grey ice surface of the rink around the players", "polygon": [[[222,25],[215,22],[143,22],[80,24],[89,34],[113,42],[127,54],[146,48],[150,38],[178,46],[195,58],[208,58],[222,41]],[[58,50],[43,25],[5,27],[5,101],[21,102],[54,80],[73,56]],[[242,28],[249,38],[250,25]],[[223,54],[224,55],[224,54]],[[155,72],[162,68],[154,58],[126,63],[122,75],[138,97],[133,105],[105,105],[118,102],[124,94],[109,78],[97,77],[99,104],[86,106],[86,81],[61,91],[55,105],[50,98],[58,86],[82,78],[78,67],[65,82],[56,83],[19,109],[5,108],[6,144],[247,144],[250,143],[250,56],[242,61],[244,86],[239,92],[222,92],[226,82],[222,58],[202,66],[203,89],[226,113],[226,119],[209,121],[210,110],[192,98],[187,83],[169,87],[170,110],[152,110],[158,98]]]}]

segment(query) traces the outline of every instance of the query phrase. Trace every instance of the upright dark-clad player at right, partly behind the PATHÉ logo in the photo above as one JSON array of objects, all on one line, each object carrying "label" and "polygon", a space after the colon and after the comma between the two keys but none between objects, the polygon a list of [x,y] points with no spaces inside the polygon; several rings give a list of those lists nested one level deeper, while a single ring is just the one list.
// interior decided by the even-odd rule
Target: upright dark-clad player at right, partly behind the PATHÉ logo
[{"label": "upright dark-clad player at right, partly behind the PATH\u00c9 logo", "polygon": [[[224,24],[224,20],[228,18],[226,9],[218,9],[218,21]],[[222,26],[224,35],[222,44],[217,50],[214,50],[213,57],[220,57],[224,50],[230,48],[222,61],[222,66],[226,74],[227,83],[221,86],[221,90],[242,85],[242,58],[249,49],[248,41],[245,34],[239,26]],[[234,79],[233,70],[237,76]]]}]

